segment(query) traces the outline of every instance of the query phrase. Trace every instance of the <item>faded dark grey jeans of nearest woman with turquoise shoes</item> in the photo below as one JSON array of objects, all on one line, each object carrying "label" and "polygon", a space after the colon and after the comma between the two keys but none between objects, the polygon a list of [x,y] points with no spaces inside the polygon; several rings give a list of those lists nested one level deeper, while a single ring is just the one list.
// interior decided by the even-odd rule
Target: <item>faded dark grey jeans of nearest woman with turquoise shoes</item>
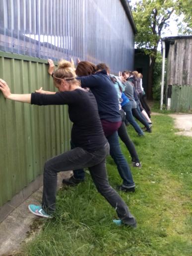
[{"label": "faded dark grey jeans of nearest woman with turquoise shoes", "polygon": [[109,185],[105,162],[108,154],[109,143],[106,143],[100,150],[94,152],[88,152],[81,147],[76,147],[49,159],[44,166],[43,209],[47,213],[55,211],[58,172],[87,167],[98,192],[116,209],[122,222],[135,226],[136,221],[129,212],[128,206],[121,196]]}]

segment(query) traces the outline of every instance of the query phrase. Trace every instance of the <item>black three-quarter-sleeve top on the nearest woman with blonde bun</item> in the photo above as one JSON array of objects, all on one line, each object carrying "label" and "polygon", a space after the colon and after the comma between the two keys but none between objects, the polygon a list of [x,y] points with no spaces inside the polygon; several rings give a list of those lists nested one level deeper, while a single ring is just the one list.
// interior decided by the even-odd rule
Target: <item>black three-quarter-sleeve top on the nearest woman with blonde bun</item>
[{"label": "black three-quarter-sleeve top on the nearest woman with blonde bun", "polygon": [[73,123],[71,140],[76,147],[96,151],[106,142],[97,103],[92,92],[75,89],[56,94],[31,94],[31,104],[68,105],[69,119]]}]

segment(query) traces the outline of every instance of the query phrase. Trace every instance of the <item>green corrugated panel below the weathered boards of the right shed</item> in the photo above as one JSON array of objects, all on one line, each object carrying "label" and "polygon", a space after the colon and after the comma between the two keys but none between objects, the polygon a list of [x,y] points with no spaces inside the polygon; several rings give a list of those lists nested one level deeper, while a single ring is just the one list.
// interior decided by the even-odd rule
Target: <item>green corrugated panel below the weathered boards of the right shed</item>
[{"label": "green corrugated panel below the weathered boards of the right shed", "polygon": [[171,110],[192,111],[192,85],[172,85]]}]

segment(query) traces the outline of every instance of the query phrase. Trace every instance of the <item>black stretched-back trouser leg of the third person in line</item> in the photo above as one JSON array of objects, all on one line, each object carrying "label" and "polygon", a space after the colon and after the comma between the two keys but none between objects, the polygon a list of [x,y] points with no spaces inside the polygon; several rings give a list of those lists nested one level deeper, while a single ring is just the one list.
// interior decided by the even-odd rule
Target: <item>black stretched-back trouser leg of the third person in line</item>
[{"label": "black stretched-back trouser leg of the third person in line", "polygon": [[128,131],[127,131],[127,128],[126,128],[126,124],[123,121],[122,121],[122,125],[118,129],[118,135],[120,136],[121,140],[126,145],[128,151],[130,153],[130,156],[132,158],[131,159],[132,162],[139,162],[139,158],[138,158],[135,146],[134,146],[132,140],[128,136]]}]

